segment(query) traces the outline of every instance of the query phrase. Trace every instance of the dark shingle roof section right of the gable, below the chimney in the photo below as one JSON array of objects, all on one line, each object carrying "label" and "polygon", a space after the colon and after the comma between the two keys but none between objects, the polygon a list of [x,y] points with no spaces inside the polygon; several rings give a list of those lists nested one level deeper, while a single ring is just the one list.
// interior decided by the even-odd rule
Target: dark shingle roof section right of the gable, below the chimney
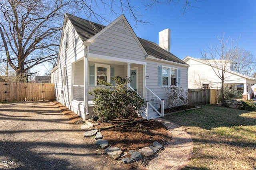
[{"label": "dark shingle roof section right of the gable, below the chimney", "polygon": [[151,41],[148,41],[146,39],[138,38],[140,40],[140,43],[148,53],[148,55],[152,55],[157,59],[164,59],[168,61],[173,61],[176,63],[186,64],[184,61],[173,55],[172,53],[162,49],[159,45],[156,43],[153,43]]}]

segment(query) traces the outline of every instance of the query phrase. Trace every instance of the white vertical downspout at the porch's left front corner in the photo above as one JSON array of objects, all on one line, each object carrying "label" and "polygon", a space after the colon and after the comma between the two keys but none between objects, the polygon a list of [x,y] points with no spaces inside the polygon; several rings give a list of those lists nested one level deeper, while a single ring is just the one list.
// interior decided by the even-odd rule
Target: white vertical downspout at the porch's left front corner
[{"label": "white vertical downspout at the porch's left front corner", "polygon": [[88,113],[88,95],[89,95],[89,81],[88,81],[88,62],[89,62],[89,46],[91,43],[84,42],[84,108],[85,114],[89,115]]}]

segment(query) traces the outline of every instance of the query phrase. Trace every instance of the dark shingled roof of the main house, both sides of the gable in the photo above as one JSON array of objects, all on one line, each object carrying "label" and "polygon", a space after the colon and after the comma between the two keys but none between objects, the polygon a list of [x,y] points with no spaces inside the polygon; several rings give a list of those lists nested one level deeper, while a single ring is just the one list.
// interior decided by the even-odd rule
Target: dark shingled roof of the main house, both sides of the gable
[{"label": "dark shingled roof of the main house, both sides of the gable", "polygon": [[[76,32],[82,39],[82,41],[87,41],[88,39],[92,38],[94,35],[96,35],[98,32],[100,32],[105,26],[100,25],[98,23],[94,23],[88,20],[84,20],[82,18],[66,14],[68,16],[68,19],[76,29]],[[172,53],[162,49],[159,45],[156,43],[153,43],[151,41],[138,38],[148,55],[152,55],[157,59],[164,59],[167,61],[173,61],[176,63],[186,64],[184,61],[173,55]]]}]

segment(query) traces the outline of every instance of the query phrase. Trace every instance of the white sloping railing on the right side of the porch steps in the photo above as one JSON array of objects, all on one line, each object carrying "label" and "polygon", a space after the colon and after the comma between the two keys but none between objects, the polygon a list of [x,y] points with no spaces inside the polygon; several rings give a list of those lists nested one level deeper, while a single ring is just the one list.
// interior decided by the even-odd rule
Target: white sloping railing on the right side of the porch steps
[{"label": "white sloping railing on the right side of the porch steps", "polygon": [[[158,115],[164,117],[164,100],[160,99],[148,87],[146,87],[146,100],[147,100],[146,101],[147,102],[147,111],[148,111],[149,106],[151,106],[154,109],[154,111],[156,111],[156,113],[158,113]],[[149,115],[147,115],[147,119],[148,119],[148,117],[149,117]]]}]

